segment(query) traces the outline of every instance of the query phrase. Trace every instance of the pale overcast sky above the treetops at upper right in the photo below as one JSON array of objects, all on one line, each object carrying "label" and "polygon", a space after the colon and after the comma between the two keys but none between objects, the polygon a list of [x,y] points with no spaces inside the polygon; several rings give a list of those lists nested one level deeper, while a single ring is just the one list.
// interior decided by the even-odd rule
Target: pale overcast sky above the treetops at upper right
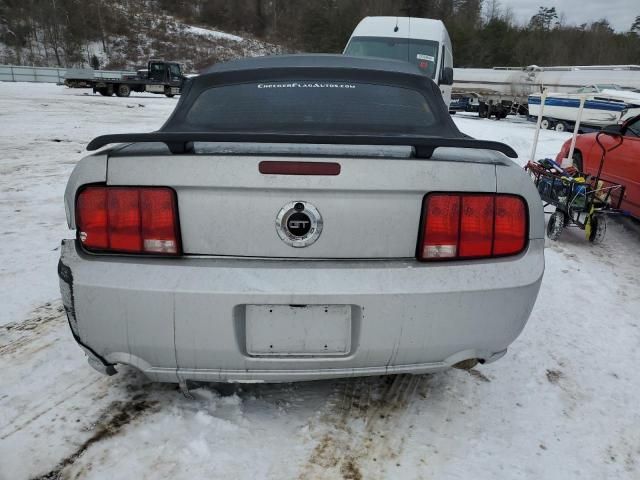
[{"label": "pale overcast sky above the treetops at upper right", "polygon": [[613,28],[623,32],[628,31],[640,15],[638,0],[501,0],[500,4],[511,8],[518,23],[528,22],[540,6],[545,6],[556,7],[558,13],[564,13],[567,24],[580,25],[604,17]]}]

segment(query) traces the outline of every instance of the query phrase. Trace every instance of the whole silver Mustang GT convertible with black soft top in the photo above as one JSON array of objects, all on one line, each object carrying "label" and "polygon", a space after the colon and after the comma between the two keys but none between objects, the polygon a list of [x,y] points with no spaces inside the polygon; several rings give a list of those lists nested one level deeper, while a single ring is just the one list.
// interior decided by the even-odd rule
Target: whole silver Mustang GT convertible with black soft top
[{"label": "whole silver Mustang GT convertible with black soft top", "polygon": [[543,213],[515,152],[462,134],[409,63],[216,65],[159,131],[87,148],[100,151],[69,179],[58,275],[71,331],[107,374],[282,382],[489,363],[538,294]]}]

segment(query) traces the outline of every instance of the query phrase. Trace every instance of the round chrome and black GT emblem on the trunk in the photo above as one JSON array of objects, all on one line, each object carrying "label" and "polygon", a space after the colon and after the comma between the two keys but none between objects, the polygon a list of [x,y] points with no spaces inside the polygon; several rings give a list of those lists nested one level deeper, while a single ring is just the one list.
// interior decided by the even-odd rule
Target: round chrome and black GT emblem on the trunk
[{"label": "round chrome and black GT emblem on the trunk", "polygon": [[322,216],[308,202],[287,203],[276,216],[276,232],[287,245],[308,247],[322,233]]}]

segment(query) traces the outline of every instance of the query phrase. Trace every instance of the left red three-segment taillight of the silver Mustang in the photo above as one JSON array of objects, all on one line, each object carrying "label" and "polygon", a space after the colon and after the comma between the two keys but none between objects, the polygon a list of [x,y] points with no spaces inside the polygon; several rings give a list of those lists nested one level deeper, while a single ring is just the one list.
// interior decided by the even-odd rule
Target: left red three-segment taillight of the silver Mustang
[{"label": "left red three-segment taillight of the silver Mustang", "polygon": [[165,187],[88,187],[76,201],[82,245],[92,251],[177,255],[175,193]]}]

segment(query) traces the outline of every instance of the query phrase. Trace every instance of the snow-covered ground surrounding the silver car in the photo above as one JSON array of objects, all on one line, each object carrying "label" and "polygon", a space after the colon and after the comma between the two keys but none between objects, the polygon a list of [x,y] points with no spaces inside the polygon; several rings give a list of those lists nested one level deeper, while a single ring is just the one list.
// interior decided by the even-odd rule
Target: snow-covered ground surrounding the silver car
[{"label": "snow-covered ground surrounding the silver car", "polygon": [[[102,133],[175,106],[0,83],[0,480],[640,478],[640,229],[549,242],[540,297],[506,357],[471,372],[197,389],[103,377],[58,300],[62,194]],[[528,157],[534,126],[457,115]],[[541,132],[538,157],[568,134]]]}]

